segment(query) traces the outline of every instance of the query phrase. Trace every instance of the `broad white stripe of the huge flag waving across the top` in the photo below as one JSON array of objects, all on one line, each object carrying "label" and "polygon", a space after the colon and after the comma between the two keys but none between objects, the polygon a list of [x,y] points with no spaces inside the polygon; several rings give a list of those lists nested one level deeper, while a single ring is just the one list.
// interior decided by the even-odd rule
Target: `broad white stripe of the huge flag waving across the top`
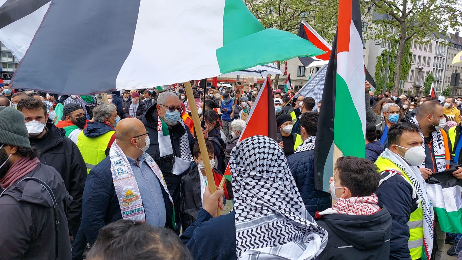
[{"label": "broad white stripe of the huge flag waving across the top", "polygon": [[[194,16],[204,9],[207,16]],[[119,71],[116,87],[152,86],[153,74],[157,85],[170,84],[172,79],[185,82],[219,75],[216,50],[223,46],[224,10],[225,0],[176,0],[175,4],[141,0],[132,50]],[[155,37],[172,35],[172,31],[175,38]],[[198,35],[201,40],[190,40]],[[211,65],[197,67],[197,62]]]}]

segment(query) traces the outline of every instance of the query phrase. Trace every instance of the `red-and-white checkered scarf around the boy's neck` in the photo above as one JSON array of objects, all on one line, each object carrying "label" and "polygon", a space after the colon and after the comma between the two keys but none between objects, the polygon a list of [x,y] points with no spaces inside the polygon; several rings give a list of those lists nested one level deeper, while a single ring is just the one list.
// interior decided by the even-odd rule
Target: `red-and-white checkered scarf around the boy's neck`
[{"label": "red-and-white checkered scarf around the boy's neck", "polygon": [[373,215],[380,210],[377,203],[378,198],[374,193],[367,197],[339,198],[332,208],[316,212],[316,218],[327,214]]}]

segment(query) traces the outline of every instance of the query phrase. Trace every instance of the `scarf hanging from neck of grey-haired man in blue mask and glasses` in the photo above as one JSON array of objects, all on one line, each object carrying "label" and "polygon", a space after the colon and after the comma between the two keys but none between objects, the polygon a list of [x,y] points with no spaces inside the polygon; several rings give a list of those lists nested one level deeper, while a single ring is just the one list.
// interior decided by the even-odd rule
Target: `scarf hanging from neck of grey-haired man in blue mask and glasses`
[{"label": "scarf hanging from neck of grey-haired man in blue mask and glasses", "polygon": [[178,118],[178,124],[184,129],[184,134],[180,137],[180,157],[173,155],[173,146],[170,139],[169,127],[164,120],[158,116],[157,119],[157,137],[159,142],[159,161],[173,161],[171,172],[180,175],[189,168],[193,161],[191,149],[189,147],[188,131],[184,126],[183,118]]}]

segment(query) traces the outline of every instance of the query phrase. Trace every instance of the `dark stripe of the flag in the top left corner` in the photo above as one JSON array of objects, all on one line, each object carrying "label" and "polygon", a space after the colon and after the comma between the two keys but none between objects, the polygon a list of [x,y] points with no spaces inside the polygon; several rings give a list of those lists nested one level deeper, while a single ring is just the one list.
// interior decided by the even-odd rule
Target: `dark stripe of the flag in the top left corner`
[{"label": "dark stripe of the flag in the top left corner", "polygon": [[50,0],[6,0],[0,6],[0,29],[35,12]]}]

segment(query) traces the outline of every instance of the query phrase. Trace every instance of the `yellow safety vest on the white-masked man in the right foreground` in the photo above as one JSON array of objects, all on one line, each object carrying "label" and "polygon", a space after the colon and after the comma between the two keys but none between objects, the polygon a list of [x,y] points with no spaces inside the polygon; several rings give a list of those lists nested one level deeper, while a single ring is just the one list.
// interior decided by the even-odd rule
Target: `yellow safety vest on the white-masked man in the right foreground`
[{"label": "yellow safety vest on the white-masked man in the right foreground", "polygon": [[[399,170],[399,167],[396,166],[392,161],[379,156],[377,161],[375,162],[377,167],[379,168],[379,172],[382,172],[387,169],[396,169]],[[407,177],[406,173],[401,172],[407,182],[413,186],[409,177]],[[414,187],[414,186],[413,186]],[[423,256],[425,255],[424,248],[424,211],[422,210],[422,203],[420,203],[420,207],[416,210],[411,212],[411,217],[407,222],[407,226],[409,227],[409,241],[407,242],[407,246],[409,247],[409,254],[411,254],[411,258],[415,259],[424,259]]]}]

